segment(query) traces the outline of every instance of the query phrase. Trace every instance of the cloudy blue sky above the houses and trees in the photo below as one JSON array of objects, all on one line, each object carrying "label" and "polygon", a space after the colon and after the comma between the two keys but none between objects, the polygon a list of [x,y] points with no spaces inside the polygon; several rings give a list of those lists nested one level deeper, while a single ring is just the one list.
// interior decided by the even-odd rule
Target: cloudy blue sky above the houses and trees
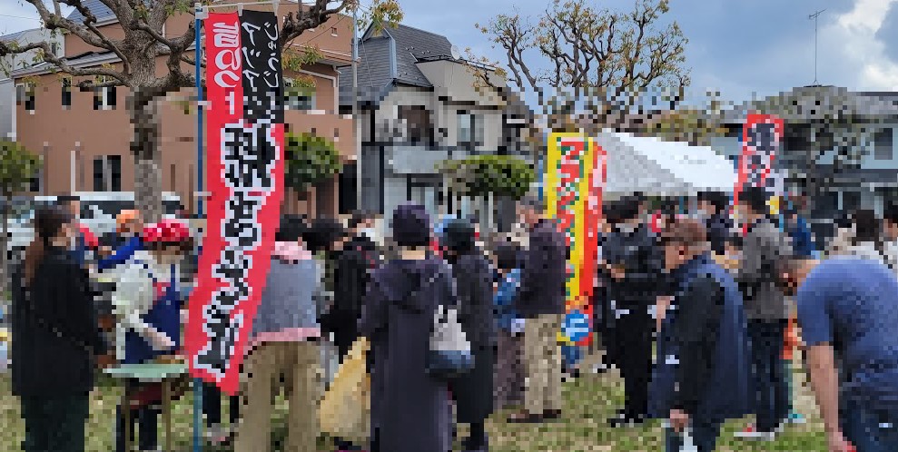
[{"label": "cloudy blue sky above the houses and trees", "polygon": [[[632,5],[627,0],[587,0]],[[363,0],[363,5],[368,1]],[[546,0],[400,0],[406,25],[443,34],[452,44],[500,60],[475,28],[498,14],[538,15]],[[672,0],[666,21],[689,39],[692,90],[725,99],[787,91],[814,81],[814,21],[819,19],[818,82],[856,91],[898,91],[898,0]],[[10,17],[17,16],[17,17]],[[0,0],[0,34],[34,28],[34,7]]]}]

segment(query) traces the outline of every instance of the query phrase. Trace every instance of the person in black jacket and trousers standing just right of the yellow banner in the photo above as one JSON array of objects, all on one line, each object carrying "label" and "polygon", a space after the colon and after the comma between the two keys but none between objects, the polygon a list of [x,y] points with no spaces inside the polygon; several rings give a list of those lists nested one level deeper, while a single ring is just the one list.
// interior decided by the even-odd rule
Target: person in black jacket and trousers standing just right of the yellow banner
[{"label": "person in black jacket and trousers standing just right of the yellow banner", "polygon": [[612,418],[612,426],[640,423],[648,410],[648,383],[652,366],[650,309],[666,293],[663,252],[656,235],[641,221],[638,204],[621,200],[609,204],[608,221],[614,230],[603,247],[607,270],[609,321],[614,360],[624,378],[626,403]]}]

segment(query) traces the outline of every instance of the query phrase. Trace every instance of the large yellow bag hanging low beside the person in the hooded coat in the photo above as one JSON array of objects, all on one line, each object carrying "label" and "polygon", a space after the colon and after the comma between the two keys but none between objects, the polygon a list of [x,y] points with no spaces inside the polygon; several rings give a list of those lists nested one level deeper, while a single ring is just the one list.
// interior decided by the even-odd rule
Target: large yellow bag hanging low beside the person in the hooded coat
[{"label": "large yellow bag hanging low beside the person in the hooded coat", "polygon": [[352,344],[318,410],[321,432],[357,444],[370,436],[371,380],[365,365],[369,347],[365,338]]}]

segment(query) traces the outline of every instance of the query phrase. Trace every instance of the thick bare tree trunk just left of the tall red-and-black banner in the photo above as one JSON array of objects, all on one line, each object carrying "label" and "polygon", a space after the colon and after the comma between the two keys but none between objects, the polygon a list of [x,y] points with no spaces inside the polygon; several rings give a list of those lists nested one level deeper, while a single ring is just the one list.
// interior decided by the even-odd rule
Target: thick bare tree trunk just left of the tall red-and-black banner
[{"label": "thick bare tree trunk just left of the tall red-and-black banner", "polygon": [[133,126],[131,152],[134,157],[134,204],[144,221],[163,217],[162,170],[159,163],[160,121],[152,93],[129,96]]}]

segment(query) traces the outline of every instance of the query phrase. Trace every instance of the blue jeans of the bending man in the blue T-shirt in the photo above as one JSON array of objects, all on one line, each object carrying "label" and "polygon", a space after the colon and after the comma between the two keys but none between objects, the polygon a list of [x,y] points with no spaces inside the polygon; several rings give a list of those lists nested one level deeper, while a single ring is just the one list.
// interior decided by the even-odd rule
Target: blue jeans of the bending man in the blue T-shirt
[{"label": "blue jeans of the bending man in the blue T-shirt", "polygon": [[841,419],[844,435],[857,452],[898,450],[898,409],[873,409],[857,402],[846,406]]}]

